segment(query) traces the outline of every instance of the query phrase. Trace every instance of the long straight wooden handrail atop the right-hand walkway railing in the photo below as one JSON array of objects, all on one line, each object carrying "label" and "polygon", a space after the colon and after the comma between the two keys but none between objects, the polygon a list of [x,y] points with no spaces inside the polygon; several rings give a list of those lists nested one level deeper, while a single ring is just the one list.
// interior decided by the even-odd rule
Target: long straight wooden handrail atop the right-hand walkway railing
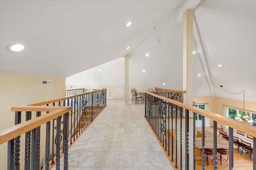
[{"label": "long straight wooden handrail atop the right-hand walkway railing", "polygon": [[219,115],[217,113],[213,113],[211,111],[203,110],[203,109],[200,109],[198,107],[194,107],[194,106],[191,106],[191,105],[188,105],[188,104],[184,104],[184,103],[178,102],[176,100],[165,98],[165,97],[159,96],[157,94],[153,94],[153,93],[150,93],[150,92],[147,92],[147,91],[145,91],[145,92],[147,94],[155,96],[156,98],[160,98],[162,100],[165,100],[166,102],[170,102],[170,103],[175,104],[177,106],[180,106],[184,109],[188,109],[188,110],[190,110],[192,112],[195,112],[195,113],[198,113],[198,114],[200,114],[204,117],[207,117],[209,119],[217,121],[218,123],[222,123],[223,125],[227,125],[228,127],[232,127],[233,129],[237,129],[237,130],[242,131],[244,133],[247,133],[247,134],[249,134],[253,137],[256,137],[256,127],[254,127],[252,125],[248,125],[248,124],[245,124],[245,123],[242,123],[242,122],[239,122],[239,121],[235,121],[233,119],[230,119],[228,117]]}]

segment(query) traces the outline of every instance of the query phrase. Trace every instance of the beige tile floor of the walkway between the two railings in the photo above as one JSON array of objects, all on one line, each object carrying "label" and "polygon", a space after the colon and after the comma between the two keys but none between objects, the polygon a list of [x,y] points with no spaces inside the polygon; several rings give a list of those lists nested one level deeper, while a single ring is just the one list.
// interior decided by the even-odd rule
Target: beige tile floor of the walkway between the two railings
[{"label": "beige tile floor of the walkway between the two railings", "polygon": [[[173,170],[144,119],[144,108],[108,99],[107,107],[69,149],[69,170]],[[60,164],[63,169],[63,158]]]}]

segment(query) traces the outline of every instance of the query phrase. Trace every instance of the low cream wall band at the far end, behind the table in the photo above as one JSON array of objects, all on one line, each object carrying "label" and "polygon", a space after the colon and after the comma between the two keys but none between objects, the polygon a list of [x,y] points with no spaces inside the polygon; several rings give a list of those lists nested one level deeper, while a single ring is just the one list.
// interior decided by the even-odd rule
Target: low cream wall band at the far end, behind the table
[{"label": "low cream wall band at the far end, behind the table", "polygon": [[[116,86],[97,86],[97,85],[86,85],[86,86],[78,86],[78,85],[68,85],[68,90],[70,89],[78,89],[78,88],[108,88],[110,89],[110,98],[115,98],[115,87]],[[72,87],[72,88],[71,88]],[[138,91],[147,91],[149,88],[154,89],[155,86],[129,86],[129,98],[132,98],[132,88],[136,88]]]}]

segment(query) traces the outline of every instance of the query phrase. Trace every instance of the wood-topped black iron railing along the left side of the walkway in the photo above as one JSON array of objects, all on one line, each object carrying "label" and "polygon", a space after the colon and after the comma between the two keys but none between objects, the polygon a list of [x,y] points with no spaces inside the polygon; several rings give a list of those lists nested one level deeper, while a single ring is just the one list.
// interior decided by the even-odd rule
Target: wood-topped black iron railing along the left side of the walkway
[{"label": "wood-topped black iron railing along the left side of the walkway", "polygon": [[[63,155],[64,169],[67,170],[68,148],[105,106],[106,89],[102,89],[12,107],[15,125],[0,131],[0,145],[8,142],[8,170],[39,170],[42,163],[46,170],[55,164],[56,169],[60,169],[60,156]],[[41,147],[45,147],[44,153],[40,152]],[[24,150],[24,156],[20,156],[21,150]],[[24,168],[20,167],[20,161]]]}]

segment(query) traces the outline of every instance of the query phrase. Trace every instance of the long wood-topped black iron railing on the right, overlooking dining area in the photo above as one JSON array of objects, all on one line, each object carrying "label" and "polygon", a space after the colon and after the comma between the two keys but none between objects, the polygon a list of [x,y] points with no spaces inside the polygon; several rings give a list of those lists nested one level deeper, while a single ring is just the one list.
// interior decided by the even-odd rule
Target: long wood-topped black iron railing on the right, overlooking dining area
[{"label": "long wood-topped black iron railing on the right, overlooking dining area", "polygon": [[[184,114],[183,114],[184,112]],[[196,150],[196,124],[195,115],[202,115],[202,146],[200,146],[202,169],[205,166],[205,118],[211,119],[214,123],[213,127],[213,168],[217,169],[217,122],[218,124],[229,127],[229,169],[233,169],[233,130],[237,129],[247,133],[253,137],[253,145],[256,146],[256,127],[232,120],[228,117],[212,113],[197,107],[193,107],[163,96],[154,94],[153,92],[145,92],[145,118],[152,127],[156,137],[158,137],[163,150],[166,152],[171,164],[178,169],[195,170],[195,150]],[[189,115],[192,114],[192,117]],[[192,118],[192,119],[191,119]],[[185,120],[184,120],[185,119]],[[192,124],[192,125],[191,125]],[[185,133],[185,135],[184,135]],[[190,135],[189,135],[190,134]],[[191,145],[192,144],[192,145]],[[189,148],[189,145],[190,148]],[[183,153],[185,154],[183,155]],[[256,170],[256,150],[253,150],[254,157],[253,169]],[[189,160],[190,159],[190,160]],[[179,162],[179,163],[178,163]],[[182,166],[182,162],[185,162]],[[191,167],[189,164],[193,163]]]}]

